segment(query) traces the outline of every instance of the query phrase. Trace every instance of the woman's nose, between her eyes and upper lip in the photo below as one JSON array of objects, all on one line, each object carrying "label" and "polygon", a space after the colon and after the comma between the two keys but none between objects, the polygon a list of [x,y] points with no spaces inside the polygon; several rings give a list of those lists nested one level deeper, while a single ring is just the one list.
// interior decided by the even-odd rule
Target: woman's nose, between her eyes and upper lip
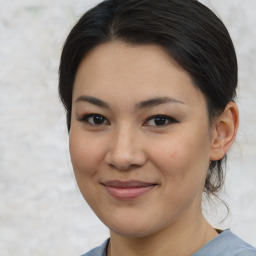
[{"label": "woman's nose, between her eyes and upper lip", "polygon": [[113,132],[106,154],[106,162],[112,168],[127,171],[143,166],[147,161],[143,138],[133,129]]}]

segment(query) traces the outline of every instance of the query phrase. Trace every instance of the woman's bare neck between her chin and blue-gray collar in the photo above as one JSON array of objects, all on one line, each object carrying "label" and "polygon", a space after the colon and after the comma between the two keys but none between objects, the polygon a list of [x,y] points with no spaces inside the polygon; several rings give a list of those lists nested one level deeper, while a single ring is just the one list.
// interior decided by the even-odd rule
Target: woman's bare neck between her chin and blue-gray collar
[{"label": "woman's bare neck between her chin and blue-gray collar", "polygon": [[145,237],[126,237],[110,232],[108,256],[191,256],[218,233],[197,216],[191,223],[182,220]]}]

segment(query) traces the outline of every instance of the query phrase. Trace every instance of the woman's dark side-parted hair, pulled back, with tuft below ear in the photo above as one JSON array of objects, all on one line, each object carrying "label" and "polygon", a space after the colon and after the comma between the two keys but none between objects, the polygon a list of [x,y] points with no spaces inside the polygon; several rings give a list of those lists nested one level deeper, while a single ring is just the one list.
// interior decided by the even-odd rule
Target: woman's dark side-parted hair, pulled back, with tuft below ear
[{"label": "woman's dark side-parted hair, pulled back, with tuft below ear", "polygon": [[[161,46],[191,76],[207,100],[209,121],[234,101],[237,59],[221,20],[196,0],[105,0],[86,12],[68,35],[59,67],[59,94],[70,129],[72,91],[81,60],[100,44]],[[226,156],[211,162],[204,191],[217,196]]]}]

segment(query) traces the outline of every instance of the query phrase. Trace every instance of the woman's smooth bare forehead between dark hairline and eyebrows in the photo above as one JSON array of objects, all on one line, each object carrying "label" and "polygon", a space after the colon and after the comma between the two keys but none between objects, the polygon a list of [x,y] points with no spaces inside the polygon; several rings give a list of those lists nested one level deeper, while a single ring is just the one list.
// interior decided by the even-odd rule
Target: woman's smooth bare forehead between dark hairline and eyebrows
[{"label": "woman's smooth bare forehead between dark hairline and eyebrows", "polygon": [[129,101],[169,96],[191,102],[203,97],[190,75],[160,46],[123,42],[102,44],[85,56],[74,84],[74,97],[80,94]]}]

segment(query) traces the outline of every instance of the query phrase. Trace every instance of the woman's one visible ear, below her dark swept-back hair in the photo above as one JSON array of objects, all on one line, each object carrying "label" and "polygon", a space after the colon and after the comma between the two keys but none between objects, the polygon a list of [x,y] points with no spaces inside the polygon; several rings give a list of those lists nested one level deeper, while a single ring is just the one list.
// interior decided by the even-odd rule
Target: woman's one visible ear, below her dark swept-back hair
[{"label": "woman's one visible ear, below her dark swept-back hair", "polygon": [[236,103],[229,102],[212,126],[211,161],[220,160],[225,156],[236,138],[238,125],[238,107]]}]

